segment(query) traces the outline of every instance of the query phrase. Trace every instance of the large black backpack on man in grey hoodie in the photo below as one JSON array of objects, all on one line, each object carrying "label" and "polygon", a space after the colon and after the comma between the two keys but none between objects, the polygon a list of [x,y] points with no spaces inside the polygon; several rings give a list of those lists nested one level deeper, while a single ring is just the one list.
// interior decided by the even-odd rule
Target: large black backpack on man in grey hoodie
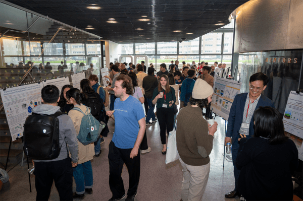
[{"label": "large black backpack on man in grey hoodie", "polygon": [[58,158],[63,144],[61,146],[59,144],[59,119],[57,117],[62,114],[66,113],[56,112],[47,115],[32,112],[26,118],[23,150],[27,157],[35,160]]}]

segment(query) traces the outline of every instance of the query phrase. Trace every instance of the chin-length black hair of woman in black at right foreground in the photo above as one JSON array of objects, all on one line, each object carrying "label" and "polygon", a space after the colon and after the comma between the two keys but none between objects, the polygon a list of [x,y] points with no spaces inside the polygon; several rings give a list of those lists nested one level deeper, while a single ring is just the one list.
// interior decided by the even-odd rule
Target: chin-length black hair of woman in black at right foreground
[{"label": "chin-length black hair of woman in black at right foreground", "polygon": [[271,145],[282,144],[287,140],[284,135],[284,123],[280,112],[273,107],[260,106],[254,112],[254,137],[269,138]]}]

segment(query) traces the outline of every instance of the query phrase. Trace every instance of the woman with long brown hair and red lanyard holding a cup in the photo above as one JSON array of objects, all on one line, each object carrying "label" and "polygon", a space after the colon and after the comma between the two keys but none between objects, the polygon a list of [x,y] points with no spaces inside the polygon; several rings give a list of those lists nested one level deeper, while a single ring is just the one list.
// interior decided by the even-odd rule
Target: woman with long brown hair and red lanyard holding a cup
[{"label": "woman with long brown hair and red lanyard holding a cup", "polygon": [[160,137],[163,145],[162,154],[166,154],[166,135],[173,130],[174,125],[174,109],[173,104],[176,102],[176,95],[174,88],[169,86],[167,75],[160,77],[158,88],[154,90],[153,104],[157,108],[157,117],[160,125]]}]

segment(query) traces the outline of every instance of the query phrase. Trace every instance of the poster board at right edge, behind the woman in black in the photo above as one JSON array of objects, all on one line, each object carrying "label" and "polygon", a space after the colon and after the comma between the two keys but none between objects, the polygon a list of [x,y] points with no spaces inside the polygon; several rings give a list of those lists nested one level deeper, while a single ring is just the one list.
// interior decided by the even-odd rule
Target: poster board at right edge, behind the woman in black
[{"label": "poster board at right edge, behind the woman in black", "polygon": [[283,123],[285,131],[288,132],[286,136],[293,140],[299,152],[299,159],[303,160],[303,93],[290,92]]}]

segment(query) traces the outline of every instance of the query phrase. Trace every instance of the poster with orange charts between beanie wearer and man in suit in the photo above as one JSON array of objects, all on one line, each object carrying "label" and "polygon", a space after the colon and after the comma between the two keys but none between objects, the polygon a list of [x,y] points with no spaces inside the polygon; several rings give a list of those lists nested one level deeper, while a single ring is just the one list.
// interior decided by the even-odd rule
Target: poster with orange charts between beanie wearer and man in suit
[{"label": "poster with orange charts between beanie wearer and man in suit", "polygon": [[240,88],[241,82],[226,78],[215,78],[211,110],[222,118],[228,120],[230,107],[235,96],[240,93]]}]

